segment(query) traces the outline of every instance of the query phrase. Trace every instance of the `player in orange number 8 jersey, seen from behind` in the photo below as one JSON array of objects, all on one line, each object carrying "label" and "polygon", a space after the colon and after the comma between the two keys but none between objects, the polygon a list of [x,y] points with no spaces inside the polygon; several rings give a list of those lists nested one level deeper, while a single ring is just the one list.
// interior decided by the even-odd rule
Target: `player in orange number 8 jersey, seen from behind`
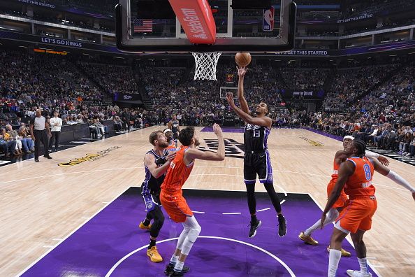
[{"label": "player in orange number 8 jersey, seen from behind", "polygon": [[380,164],[376,159],[365,157],[366,144],[364,141],[355,139],[347,145],[347,160],[340,165],[339,176],[333,192],[328,198],[326,208],[321,215],[321,227],[326,220],[330,208],[344,192],[349,195],[343,210],[336,219],[335,228],[330,241],[330,257],[328,262],[328,277],[335,277],[340,258],[342,257],[342,241],[351,233],[356,250],[356,256],[361,267],[360,271],[347,270],[349,276],[370,277],[366,260],[366,246],[363,235],[372,227],[372,216],[377,209],[377,201],[374,196],[375,188],[372,185],[373,172],[377,171],[390,178],[398,185],[412,192],[415,200],[415,188],[397,173]]}]

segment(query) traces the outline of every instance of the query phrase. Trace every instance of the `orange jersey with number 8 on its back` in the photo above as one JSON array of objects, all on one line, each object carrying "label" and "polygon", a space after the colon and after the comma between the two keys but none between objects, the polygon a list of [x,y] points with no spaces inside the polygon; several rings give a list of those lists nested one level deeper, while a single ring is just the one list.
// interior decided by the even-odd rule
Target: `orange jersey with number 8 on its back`
[{"label": "orange jersey with number 8 on its back", "polygon": [[344,192],[350,199],[374,196],[375,188],[372,185],[374,167],[367,157],[351,157],[347,161],[355,165],[353,175],[349,176],[344,185]]}]

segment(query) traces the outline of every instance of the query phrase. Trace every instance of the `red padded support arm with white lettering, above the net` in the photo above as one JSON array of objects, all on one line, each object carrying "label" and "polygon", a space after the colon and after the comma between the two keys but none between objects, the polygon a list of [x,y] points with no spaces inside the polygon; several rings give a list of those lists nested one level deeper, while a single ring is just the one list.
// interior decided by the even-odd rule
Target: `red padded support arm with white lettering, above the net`
[{"label": "red padded support arm with white lettering, above the net", "polygon": [[216,24],[207,0],[168,0],[191,43],[213,44]]}]

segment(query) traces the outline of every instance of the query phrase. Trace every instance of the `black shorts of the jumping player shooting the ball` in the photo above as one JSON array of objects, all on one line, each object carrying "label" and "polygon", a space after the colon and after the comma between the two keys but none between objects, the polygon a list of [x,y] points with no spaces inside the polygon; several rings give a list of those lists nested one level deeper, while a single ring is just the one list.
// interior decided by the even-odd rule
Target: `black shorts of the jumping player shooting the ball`
[{"label": "black shorts of the jumping player shooting the ball", "polygon": [[245,153],[244,181],[245,184],[254,184],[258,175],[260,183],[272,183],[272,166],[270,153]]}]

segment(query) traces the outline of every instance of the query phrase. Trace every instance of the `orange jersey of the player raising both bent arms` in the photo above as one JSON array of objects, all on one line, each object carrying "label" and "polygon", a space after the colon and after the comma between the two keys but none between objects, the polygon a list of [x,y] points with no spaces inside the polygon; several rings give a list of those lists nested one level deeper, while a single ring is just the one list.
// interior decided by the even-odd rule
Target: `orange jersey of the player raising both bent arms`
[{"label": "orange jersey of the player raising both bent arms", "polygon": [[167,171],[166,178],[164,178],[161,190],[175,194],[182,190],[184,182],[193,169],[194,162],[186,165],[184,164],[184,152],[189,149],[189,146],[180,146],[180,149],[176,152],[176,157],[170,164],[170,168]]}]

